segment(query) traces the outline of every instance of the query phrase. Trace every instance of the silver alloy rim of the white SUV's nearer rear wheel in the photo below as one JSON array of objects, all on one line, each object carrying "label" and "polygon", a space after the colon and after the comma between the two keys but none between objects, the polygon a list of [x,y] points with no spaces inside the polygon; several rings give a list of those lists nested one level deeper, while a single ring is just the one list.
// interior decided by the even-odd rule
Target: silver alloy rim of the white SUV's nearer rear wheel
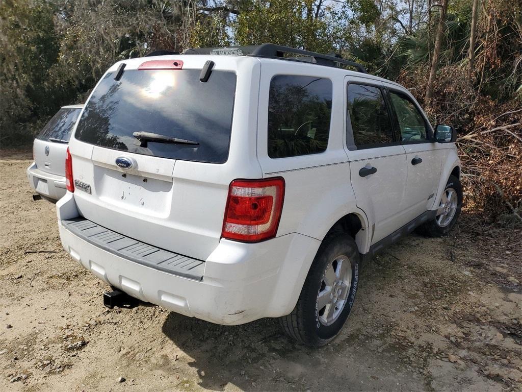
[{"label": "silver alloy rim of the white SUV's nearer rear wheel", "polygon": [[317,315],[322,325],[334,324],[339,318],[348,302],[351,283],[352,266],[348,257],[337,256],[328,263],[316,301]]}]

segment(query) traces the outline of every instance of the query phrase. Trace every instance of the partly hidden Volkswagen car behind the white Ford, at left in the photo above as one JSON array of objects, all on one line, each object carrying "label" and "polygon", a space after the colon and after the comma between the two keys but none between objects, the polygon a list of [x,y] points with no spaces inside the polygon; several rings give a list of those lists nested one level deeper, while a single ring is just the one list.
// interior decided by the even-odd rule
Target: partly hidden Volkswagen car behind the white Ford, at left
[{"label": "partly hidden Volkswagen car behind the white Ford, at left", "polygon": [[[62,107],[34,139],[34,162],[27,168],[27,177],[31,188],[49,201],[61,199],[66,192],[65,156],[70,134],[83,107]],[[38,199],[38,195],[33,199]]]}]

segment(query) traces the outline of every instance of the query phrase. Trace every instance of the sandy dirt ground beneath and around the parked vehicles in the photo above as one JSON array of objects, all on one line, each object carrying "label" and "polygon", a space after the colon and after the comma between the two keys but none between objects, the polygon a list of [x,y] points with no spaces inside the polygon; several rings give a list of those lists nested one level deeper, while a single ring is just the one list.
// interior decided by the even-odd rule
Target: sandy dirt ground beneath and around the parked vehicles
[{"label": "sandy dirt ground beneath and around the parked vehicles", "polygon": [[364,268],[340,336],[311,349],[277,320],[103,307],[109,287],[62,249],[54,204],[32,201],[29,163],[0,159],[3,391],[522,390],[520,230],[463,216],[450,237],[401,240]]}]

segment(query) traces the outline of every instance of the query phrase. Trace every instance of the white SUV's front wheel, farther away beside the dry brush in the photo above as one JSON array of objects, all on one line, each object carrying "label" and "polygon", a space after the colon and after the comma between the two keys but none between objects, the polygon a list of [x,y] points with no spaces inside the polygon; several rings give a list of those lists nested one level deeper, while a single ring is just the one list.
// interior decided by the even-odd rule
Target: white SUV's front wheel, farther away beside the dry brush
[{"label": "white SUV's front wheel, farther away beside the dry brush", "polygon": [[444,192],[438,202],[435,219],[422,225],[419,231],[430,237],[447,235],[457,222],[462,209],[462,186],[455,176],[449,176]]}]

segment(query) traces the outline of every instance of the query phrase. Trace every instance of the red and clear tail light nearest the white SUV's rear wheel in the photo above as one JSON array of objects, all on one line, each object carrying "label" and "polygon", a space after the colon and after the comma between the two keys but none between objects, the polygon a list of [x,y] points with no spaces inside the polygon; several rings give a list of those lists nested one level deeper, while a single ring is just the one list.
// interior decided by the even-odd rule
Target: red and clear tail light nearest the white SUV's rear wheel
[{"label": "red and clear tail light nearest the white SUV's rear wheel", "polygon": [[281,177],[232,181],[221,236],[244,242],[275,237],[283,198]]}]

